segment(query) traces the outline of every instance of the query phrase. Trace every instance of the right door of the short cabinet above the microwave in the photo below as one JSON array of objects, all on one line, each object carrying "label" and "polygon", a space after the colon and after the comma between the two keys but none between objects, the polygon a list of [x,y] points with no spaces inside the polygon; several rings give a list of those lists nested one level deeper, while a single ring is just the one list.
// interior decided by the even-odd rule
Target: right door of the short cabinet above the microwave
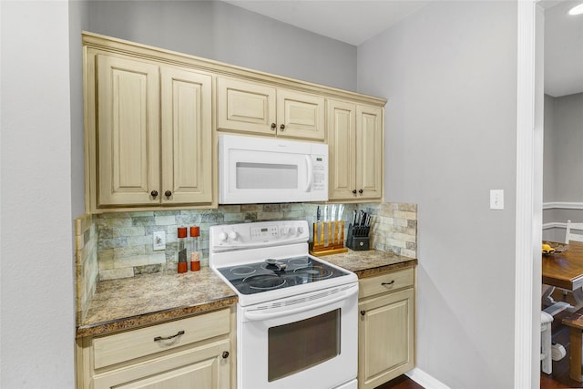
[{"label": "right door of the short cabinet above the microwave", "polygon": [[278,89],[278,138],[323,140],[324,134],[323,97]]}]

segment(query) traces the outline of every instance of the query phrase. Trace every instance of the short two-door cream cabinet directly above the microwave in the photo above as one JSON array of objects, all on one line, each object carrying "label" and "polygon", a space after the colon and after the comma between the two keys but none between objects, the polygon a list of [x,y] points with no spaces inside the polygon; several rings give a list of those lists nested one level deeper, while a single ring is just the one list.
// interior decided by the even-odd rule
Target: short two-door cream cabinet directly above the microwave
[{"label": "short two-door cream cabinet directly above the microwave", "polygon": [[324,97],[217,77],[219,130],[323,141]]}]

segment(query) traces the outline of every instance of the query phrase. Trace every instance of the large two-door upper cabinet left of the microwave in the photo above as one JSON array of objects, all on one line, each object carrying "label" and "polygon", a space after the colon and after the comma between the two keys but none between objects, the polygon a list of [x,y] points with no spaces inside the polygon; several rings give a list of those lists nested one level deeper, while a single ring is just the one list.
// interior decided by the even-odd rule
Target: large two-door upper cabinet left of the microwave
[{"label": "large two-door upper cabinet left of the microwave", "polygon": [[93,49],[85,70],[90,210],[210,205],[210,74]]}]

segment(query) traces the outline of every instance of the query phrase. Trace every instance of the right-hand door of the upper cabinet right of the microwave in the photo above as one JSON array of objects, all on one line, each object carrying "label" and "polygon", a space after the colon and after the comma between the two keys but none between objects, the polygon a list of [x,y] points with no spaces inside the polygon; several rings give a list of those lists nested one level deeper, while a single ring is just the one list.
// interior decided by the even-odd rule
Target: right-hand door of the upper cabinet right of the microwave
[{"label": "right-hand door of the upper cabinet right of the microwave", "polygon": [[383,127],[382,108],[356,107],[356,189],[359,199],[380,200],[383,197]]}]

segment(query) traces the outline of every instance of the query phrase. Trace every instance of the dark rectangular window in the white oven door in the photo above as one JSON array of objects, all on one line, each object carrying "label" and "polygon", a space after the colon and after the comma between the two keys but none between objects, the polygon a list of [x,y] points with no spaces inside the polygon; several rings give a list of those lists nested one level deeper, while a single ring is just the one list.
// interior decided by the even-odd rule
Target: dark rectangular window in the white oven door
[{"label": "dark rectangular window in the white oven door", "polygon": [[268,381],[295,374],[340,354],[340,308],[300,322],[271,327]]}]

